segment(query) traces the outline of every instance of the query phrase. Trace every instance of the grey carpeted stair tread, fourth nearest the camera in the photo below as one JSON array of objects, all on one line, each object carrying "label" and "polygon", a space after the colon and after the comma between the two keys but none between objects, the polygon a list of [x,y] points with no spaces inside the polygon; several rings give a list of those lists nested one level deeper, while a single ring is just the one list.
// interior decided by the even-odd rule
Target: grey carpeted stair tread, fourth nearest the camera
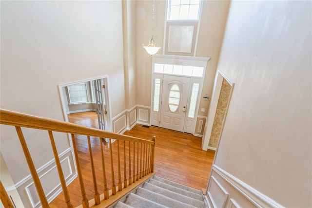
[{"label": "grey carpeted stair tread, fourth nearest the camera", "polygon": [[148,189],[148,190],[153,191],[153,192],[156,192],[156,193],[159,193],[159,194],[162,194],[164,196],[170,197],[170,198],[175,199],[177,201],[192,205],[192,206],[197,207],[197,208],[204,208],[205,207],[205,203],[202,200],[194,199],[194,198],[176,193],[176,192],[171,191],[171,190],[163,189],[161,187],[157,187],[157,186],[150,184],[148,182],[144,183],[143,188]]}]

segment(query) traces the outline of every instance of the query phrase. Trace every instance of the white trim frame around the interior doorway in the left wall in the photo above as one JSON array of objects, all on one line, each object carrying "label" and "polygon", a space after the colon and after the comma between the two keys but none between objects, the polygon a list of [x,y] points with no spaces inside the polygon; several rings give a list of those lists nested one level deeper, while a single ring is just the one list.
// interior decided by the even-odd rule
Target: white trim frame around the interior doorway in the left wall
[{"label": "white trim frame around the interior doorway in the left wall", "polygon": [[73,84],[78,84],[81,82],[88,82],[88,81],[92,81],[92,80],[97,80],[97,79],[104,79],[106,80],[106,85],[105,86],[105,95],[106,95],[106,107],[107,107],[107,131],[112,131],[112,116],[111,116],[111,108],[110,108],[110,102],[109,102],[109,77],[107,76],[99,76],[99,77],[94,77],[94,78],[88,78],[88,79],[82,79],[82,80],[78,80],[78,81],[74,81],[74,82],[68,82],[68,83],[64,83],[64,84],[59,84],[59,97],[60,97],[60,101],[62,104],[62,111],[63,111],[63,115],[64,115],[64,119],[66,122],[68,122],[68,115],[67,115],[67,111],[66,111],[66,101],[65,101],[65,96],[63,93],[63,88],[67,87],[69,85],[73,85]]}]

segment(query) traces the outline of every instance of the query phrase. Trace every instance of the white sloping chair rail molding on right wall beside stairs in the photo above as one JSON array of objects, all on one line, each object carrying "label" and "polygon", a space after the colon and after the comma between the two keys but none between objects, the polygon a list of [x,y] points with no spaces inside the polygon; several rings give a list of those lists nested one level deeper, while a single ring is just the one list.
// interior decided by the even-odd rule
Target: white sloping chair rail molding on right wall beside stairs
[{"label": "white sloping chair rail molding on right wall beside stairs", "polygon": [[253,203],[256,207],[284,208],[270,197],[264,195],[238,178],[234,177],[220,167],[213,165],[212,170],[220,175],[234,189],[241,193],[246,199]]}]

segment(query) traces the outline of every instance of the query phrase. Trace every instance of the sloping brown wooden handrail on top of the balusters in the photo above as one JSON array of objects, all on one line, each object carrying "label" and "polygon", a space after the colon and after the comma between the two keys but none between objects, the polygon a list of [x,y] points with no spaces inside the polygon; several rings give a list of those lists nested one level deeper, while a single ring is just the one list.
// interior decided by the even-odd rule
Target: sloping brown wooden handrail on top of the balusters
[{"label": "sloping brown wooden handrail on top of the balusters", "polygon": [[80,135],[89,135],[94,137],[102,138],[114,138],[119,140],[140,142],[153,145],[154,142],[151,140],[141,139],[134,136],[128,136],[118,134],[114,132],[107,132],[104,130],[93,129],[78,124],[73,124],[65,121],[59,121],[56,119],[39,117],[26,113],[18,113],[6,109],[0,109],[0,124],[19,126],[32,129],[41,129],[52,132],[64,132],[73,133]]}]

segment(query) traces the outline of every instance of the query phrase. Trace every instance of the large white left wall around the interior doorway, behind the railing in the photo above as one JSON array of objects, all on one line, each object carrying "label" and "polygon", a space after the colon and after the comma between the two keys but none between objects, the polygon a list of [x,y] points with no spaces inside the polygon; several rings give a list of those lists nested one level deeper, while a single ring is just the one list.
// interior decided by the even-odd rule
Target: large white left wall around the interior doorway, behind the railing
[{"label": "large white left wall around the interior doorway, behind the railing", "polygon": [[[1,108],[63,120],[58,85],[105,75],[114,117],[125,110],[121,1],[1,1]],[[47,132],[26,141],[36,168],[52,159]],[[1,127],[1,153],[15,184],[29,174],[14,128]]]}]

